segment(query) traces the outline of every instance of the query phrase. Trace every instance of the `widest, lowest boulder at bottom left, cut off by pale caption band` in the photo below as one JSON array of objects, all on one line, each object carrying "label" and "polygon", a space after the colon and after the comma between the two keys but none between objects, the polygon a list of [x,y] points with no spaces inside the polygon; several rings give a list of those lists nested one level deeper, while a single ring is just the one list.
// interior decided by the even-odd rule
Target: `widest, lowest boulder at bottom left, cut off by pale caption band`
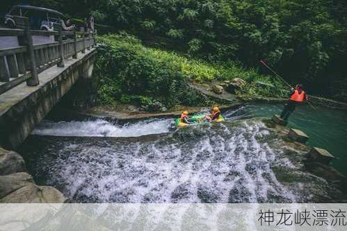
[{"label": "widest, lowest boulder at bottom left, cut off by pale caption band", "polygon": [[54,187],[28,185],[0,199],[0,203],[65,203],[66,198]]}]

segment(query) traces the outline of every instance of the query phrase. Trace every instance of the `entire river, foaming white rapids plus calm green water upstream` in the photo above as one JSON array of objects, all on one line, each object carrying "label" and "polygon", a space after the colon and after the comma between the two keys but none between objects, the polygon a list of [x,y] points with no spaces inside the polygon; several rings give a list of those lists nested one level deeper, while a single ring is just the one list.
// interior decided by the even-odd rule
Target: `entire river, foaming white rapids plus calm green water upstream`
[{"label": "entire river, foaming white rapids plus calm green water upstream", "polygon": [[[341,195],[257,117],[279,105],[246,105],[224,123],[172,130],[173,119],[117,123],[44,121],[22,146],[29,172],[83,203],[312,203]],[[255,117],[252,119],[252,117]],[[346,114],[298,108],[290,127],[346,169]]]}]

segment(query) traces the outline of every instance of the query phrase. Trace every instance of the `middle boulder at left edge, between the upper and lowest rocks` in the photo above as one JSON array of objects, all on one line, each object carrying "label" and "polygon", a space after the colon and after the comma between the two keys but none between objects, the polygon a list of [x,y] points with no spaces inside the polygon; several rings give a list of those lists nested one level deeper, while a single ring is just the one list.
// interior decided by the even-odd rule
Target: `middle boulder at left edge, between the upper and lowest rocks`
[{"label": "middle boulder at left edge, between the upper and lowest rocks", "polygon": [[13,173],[0,176],[0,198],[26,185],[33,184],[33,182],[33,177],[29,173]]}]

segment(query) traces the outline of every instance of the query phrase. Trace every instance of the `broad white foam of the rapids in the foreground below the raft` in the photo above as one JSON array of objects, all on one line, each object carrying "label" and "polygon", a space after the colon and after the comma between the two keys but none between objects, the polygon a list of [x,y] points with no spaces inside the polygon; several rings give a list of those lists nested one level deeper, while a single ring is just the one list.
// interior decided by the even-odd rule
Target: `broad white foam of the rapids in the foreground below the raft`
[{"label": "broad white foam of the rapids in the foreground below the raft", "polygon": [[[92,126],[100,130],[99,121],[87,123],[96,123]],[[134,126],[141,127],[129,127]],[[257,139],[268,135],[263,123],[245,121],[232,128],[229,123],[207,123],[154,142],[64,141],[57,144],[62,148],[47,148],[54,156],[43,156],[38,166],[47,166],[50,185],[84,202],[295,202],[295,194],[271,169],[289,160],[278,161],[270,146]]]}]

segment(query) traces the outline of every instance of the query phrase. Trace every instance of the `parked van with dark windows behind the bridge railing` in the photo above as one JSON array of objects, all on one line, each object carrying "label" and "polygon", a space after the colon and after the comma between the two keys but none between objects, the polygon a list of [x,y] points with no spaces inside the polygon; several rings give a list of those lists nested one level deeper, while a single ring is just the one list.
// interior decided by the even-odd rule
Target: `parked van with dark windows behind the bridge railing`
[{"label": "parked van with dark windows behind the bridge railing", "polygon": [[53,31],[54,24],[60,23],[63,14],[42,7],[16,5],[5,16],[5,25],[9,28],[16,28],[16,17],[28,17],[33,30]]}]

